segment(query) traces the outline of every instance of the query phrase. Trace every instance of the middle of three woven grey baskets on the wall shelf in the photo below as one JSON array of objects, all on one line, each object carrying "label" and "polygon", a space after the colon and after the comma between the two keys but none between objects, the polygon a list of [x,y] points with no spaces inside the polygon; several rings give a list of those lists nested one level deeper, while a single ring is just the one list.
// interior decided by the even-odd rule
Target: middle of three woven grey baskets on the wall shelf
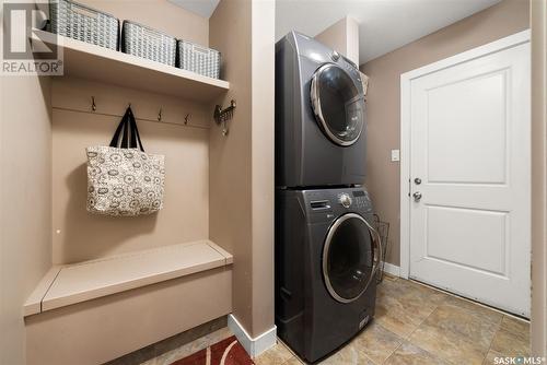
[{"label": "middle of three woven grey baskets on the wall shelf", "polygon": [[176,39],[148,26],[124,21],[121,51],[174,67]]}]

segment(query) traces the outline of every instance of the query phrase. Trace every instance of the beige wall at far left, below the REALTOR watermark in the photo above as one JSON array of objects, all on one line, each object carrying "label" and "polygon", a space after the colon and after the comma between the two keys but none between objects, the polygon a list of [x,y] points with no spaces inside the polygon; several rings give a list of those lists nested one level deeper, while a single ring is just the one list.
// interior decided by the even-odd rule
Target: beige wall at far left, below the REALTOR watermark
[{"label": "beige wall at far left, below the REALTOR watermark", "polygon": [[51,264],[49,80],[0,83],[0,364],[24,365],[23,303]]}]

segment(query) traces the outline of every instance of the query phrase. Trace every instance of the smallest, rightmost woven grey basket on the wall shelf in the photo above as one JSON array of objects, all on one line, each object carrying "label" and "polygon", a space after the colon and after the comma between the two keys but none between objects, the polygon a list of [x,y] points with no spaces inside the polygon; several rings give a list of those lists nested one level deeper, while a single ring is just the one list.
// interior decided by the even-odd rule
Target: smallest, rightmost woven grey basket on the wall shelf
[{"label": "smallest, rightmost woven grey basket on the wall shelf", "polygon": [[220,52],[188,40],[178,40],[178,68],[219,79]]}]

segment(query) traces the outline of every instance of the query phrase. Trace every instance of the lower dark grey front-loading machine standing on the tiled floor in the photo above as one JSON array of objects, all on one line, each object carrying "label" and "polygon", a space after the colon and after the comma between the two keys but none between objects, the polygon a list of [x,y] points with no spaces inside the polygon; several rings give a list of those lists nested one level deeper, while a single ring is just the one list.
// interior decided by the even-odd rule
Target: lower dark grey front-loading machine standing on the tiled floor
[{"label": "lower dark grey front-loading machine standing on the tiled floor", "polygon": [[278,335],[313,363],[372,319],[380,237],[362,188],[276,195]]}]

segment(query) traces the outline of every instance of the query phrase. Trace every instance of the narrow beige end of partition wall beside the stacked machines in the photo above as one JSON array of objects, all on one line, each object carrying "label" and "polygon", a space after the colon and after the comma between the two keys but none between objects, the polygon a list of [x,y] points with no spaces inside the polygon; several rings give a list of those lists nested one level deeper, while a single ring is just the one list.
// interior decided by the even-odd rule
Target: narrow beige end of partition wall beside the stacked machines
[{"label": "narrow beige end of partition wall beside the stacked machines", "polygon": [[253,3],[253,328],[274,327],[275,1]]}]

